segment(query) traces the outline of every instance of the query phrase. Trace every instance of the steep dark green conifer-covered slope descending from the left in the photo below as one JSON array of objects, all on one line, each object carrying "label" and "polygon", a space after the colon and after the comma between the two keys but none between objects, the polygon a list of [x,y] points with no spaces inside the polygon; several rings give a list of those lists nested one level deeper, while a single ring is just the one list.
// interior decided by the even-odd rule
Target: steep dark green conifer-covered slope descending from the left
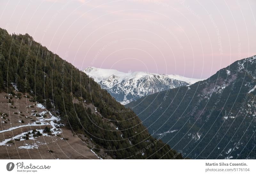
[{"label": "steep dark green conifer-covered slope descending from the left", "polygon": [[[9,95],[19,91],[14,100],[29,95],[30,100],[43,104],[60,118],[70,132],[89,138],[94,151],[104,151],[112,158],[182,158],[153,138],[135,113],[28,34],[10,35],[0,29],[0,38],[0,92]],[[1,108],[4,106],[0,104]],[[11,120],[11,115],[6,117]]]}]

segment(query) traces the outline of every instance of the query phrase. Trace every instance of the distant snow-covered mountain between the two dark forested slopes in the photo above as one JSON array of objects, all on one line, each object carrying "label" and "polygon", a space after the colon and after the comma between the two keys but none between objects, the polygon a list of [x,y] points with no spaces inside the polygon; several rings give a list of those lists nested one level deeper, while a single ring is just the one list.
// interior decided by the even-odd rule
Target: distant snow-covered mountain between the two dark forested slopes
[{"label": "distant snow-covered mountain between the two dark forested slopes", "polygon": [[165,75],[148,72],[124,73],[115,69],[101,69],[88,67],[84,72],[94,79],[101,88],[106,89],[121,104],[138,98],[193,84],[200,79],[182,77],[179,75]]}]

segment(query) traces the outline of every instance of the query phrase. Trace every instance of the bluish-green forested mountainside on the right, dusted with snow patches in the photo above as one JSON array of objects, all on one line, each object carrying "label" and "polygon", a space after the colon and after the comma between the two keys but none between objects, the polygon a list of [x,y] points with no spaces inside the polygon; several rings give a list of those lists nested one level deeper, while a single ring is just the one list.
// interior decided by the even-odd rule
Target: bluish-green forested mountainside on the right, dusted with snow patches
[{"label": "bluish-green forested mountainside on the right, dusted with snow patches", "polygon": [[126,105],[154,136],[184,157],[256,158],[256,56],[212,77]]}]

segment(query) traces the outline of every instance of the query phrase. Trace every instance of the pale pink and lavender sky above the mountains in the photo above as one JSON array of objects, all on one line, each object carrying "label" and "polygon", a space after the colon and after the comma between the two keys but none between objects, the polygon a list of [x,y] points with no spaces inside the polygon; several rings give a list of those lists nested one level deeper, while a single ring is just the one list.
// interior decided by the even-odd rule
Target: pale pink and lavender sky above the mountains
[{"label": "pale pink and lavender sky above the mountains", "polygon": [[0,27],[78,69],[207,78],[256,55],[255,0],[1,0]]}]

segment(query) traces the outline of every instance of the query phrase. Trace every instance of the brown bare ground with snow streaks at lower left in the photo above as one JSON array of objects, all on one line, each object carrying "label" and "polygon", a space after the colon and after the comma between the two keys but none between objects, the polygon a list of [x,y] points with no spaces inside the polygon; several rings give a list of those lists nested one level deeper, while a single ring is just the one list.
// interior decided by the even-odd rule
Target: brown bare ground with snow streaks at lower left
[{"label": "brown bare ground with snow streaks at lower left", "polygon": [[[7,93],[0,93],[0,112],[2,113],[0,118],[0,132],[2,131],[0,133],[0,142],[33,129],[40,130],[45,128],[46,125],[22,127],[23,125],[38,121],[33,113],[36,113],[35,111],[40,113],[45,111],[45,109],[37,108],[35,102],[28,101],[29,98],[25,98],[24,95],[22,95],[21,99],[17,100],[13,97],[11,99],[14,101],[13,105],[8,103],[7,98],[4,98],[6,96]],[[10,96],[8,95],[8,97]],[[11,106],[14,106],[14,108],[11,108]],[[3,115],[4,113],[7,113],[8,116]],[[21,123],[21,120],[24,123]],[[4,123],[4,121],[7,123]],[[17,126],[20,128],[8,131],[9,128]],[[34,137],[34,139],[30,138],[29,140],[22,141],[12,139],[13,143],[0,145],[0,159],[99,159],[98,156],[104,159],[111,159],[102,150],[95,155],[91,150],[91,147],[94,147],[95,144],[89,138],[84,137],[84,135],[72,133],[71,130],[65,127],[61,128],[61,130],[61,134],[57,135],[42,135]],[[68,140],[63,140],[63,138],[68,138]]]}]

